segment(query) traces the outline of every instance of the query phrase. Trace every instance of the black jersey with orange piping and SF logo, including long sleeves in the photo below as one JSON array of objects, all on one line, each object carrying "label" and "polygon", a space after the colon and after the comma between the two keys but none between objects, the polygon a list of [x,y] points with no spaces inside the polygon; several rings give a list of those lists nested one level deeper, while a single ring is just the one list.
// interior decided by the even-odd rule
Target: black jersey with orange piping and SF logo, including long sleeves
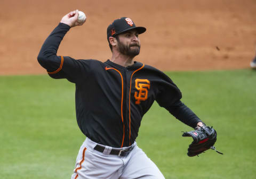
[{"label": "black jersey with orange piping and SF logo, including long sleeves", "polygon": [[69,26],[60,23],[45,40],[38,62],[54,79],[76,84],[76,118],[81,131],[94,142],[130,146],[138,136],[143,115],[156,100],[183,123],[195,127],[199,118],[181,99],[181,92],[163,72],[134,62],[121,66],[109,60],[57,56]]}]

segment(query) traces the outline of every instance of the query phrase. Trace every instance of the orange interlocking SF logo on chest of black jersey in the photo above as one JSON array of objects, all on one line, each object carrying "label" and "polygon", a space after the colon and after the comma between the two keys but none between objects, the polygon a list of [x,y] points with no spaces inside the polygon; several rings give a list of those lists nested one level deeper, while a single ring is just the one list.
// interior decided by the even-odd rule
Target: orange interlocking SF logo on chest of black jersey
[{"label": "orange interlocking SF logo on chest of black jersey", "polygon": [[150,81],[147,79],[136,79],[134,97],[136,99],[135,104],[139,105],[140,101],[145,101],[148,99],[148,89],[150,89]]}]

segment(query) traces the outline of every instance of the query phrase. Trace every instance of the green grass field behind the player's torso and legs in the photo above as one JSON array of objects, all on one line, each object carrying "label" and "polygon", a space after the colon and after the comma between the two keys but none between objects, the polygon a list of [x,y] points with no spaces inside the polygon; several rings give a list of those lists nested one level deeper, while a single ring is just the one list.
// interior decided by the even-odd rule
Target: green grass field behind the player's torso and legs
[{"label": "green grass field behind the player's torso and legs", "polygon": [[[256,71],[167,73],[182,101],[218,132],[213,150],[186,155],[190,127],[154,103],[137,143],[171,179],[256,176]],[[3,179],[70,178],[85,137],[75,119],[75,86],[46,75],[0,76],[0,174]]]}]

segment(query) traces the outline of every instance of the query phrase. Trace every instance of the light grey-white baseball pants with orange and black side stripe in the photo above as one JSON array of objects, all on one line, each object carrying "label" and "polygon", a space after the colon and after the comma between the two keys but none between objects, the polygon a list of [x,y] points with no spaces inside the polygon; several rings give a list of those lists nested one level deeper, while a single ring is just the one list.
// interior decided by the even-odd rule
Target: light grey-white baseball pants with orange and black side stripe
[{"label": "light grey-white baseball pants with orange and black side stripe", "polygon": [[109,155],[112,148],[108,146],[103,153],[94,150],[97,144],[89,138],[83,142],[71,179],[164,179],[157,166],[137,146],[136,142],[133,143],[134,148],[129,155],[125,157]]}]

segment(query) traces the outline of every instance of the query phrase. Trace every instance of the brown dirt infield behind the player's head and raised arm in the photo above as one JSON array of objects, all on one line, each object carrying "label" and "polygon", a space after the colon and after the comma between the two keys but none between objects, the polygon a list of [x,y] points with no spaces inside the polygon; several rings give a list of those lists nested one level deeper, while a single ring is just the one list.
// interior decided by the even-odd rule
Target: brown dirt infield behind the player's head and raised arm
[{"label": "brown dirt infield behind the player's head and raised arm", "polygon": [[87,21],[68,32],[58,55],[106,61],[107,26],[122,16],[147,28],[137,60],[161,70],[241,69],[255,55],[255,0],[2,0],[0,6],[0,75],[45,73],[39,49],[75,9]]}]

